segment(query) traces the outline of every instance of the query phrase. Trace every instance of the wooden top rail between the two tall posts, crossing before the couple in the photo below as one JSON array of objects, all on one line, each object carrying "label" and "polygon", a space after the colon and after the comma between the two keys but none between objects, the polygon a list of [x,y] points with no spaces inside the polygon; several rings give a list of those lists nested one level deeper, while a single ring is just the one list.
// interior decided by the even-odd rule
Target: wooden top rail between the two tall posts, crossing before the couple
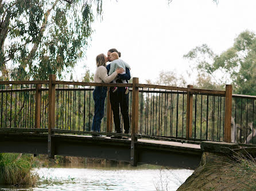
[{"label": "wooden top rail between the two tall posts, crossing before the couple", "polygon": [[55,84],[77,85],[77,86],[100,86],[100,87],[132,87],[132,83],[94,83],[94,82],[67,82],[55,81]]}]

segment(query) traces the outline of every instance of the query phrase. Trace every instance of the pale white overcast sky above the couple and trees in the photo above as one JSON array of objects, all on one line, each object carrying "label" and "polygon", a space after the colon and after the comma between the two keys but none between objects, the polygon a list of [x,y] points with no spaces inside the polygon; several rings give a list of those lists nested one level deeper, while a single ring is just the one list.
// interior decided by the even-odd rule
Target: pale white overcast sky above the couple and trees
[{"label": "pale white overcast sky above the couple and trees", "polygon": [[87,66],[96,70],[95,58],[116,48],[131,66],[139,82],[156,79],[161,70],[183,74],[188,60],[183,55],[203,43],[221,53],[245,30],[256,31],[255,0],[103,0],[103,21],[95,19],[95,33],[87,58],[73,72],[80,81]]}]

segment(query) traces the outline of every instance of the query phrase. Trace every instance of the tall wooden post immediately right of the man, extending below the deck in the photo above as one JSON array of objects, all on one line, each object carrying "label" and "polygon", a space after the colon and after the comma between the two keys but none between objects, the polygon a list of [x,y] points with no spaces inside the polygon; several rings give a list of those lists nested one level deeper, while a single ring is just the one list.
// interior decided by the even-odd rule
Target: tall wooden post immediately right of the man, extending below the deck
[{"label": "tall wooden post immediately right of the man, extending below the deck", "polygon": [[131,165],[137,166],[137,150],[136,145],[138,138],[138,109],[139,109],[139,88],[136,86],[139,78],[133,78],[133,94],[131,108]]}]

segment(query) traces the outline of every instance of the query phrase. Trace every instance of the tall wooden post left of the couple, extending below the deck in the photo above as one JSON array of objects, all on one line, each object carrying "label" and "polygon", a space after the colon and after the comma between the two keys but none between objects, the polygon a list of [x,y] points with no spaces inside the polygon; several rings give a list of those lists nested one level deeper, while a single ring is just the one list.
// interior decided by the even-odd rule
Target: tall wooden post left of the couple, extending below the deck
[{"label": "tall wooden post left of the couple, extending below the deck", "polygon": [[55,81],[56,75],[49,76],[49,94],[48,94],[48,157],[54,158],[52,129],[55,129]]}]

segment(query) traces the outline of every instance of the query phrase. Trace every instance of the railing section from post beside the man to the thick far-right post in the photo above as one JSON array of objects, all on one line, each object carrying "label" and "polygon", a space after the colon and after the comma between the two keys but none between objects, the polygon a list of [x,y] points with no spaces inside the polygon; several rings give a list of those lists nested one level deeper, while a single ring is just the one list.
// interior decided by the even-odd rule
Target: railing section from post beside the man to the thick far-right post
[{"label": "railing section from post beside the man to the thick far-right post", "polygon": [[226,91],[193,89],[191,85],[137,86],[138,133],[142,137],[224,141]]}]

